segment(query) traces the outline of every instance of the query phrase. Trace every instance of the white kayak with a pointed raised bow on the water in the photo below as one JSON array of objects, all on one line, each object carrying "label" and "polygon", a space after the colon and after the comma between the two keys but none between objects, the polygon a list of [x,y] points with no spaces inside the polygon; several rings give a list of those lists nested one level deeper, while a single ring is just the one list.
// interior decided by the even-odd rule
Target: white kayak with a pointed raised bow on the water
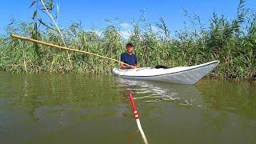
[{"label": "white kayak with a pointed raised bow on the water", "polygon": [[121,70],[114,68],[112,72],[122,78],[152,80],[158,82],[173,82],[194,84],[218,66],[219,61],[207,62],[196,66],[178,66],[169,69],[142,67]]}]

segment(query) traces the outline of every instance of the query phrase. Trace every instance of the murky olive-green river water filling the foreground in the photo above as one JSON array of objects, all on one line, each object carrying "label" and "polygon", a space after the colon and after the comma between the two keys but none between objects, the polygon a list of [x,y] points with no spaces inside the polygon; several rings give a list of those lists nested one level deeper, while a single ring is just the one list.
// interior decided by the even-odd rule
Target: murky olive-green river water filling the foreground
[{"label": "murky olive-green river water filling the foreground", "polygon": [[1,143],[256,143],[256,85],[0,72]]}]

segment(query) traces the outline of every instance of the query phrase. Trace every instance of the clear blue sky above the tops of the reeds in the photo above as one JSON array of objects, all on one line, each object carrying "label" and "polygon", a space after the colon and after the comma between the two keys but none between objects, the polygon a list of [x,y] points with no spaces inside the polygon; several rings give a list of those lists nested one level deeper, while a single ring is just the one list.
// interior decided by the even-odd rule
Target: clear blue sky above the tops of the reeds
[{"label": "clear blue sky above the tops of the reeds", "polygon": [[[32,0],[2,0],[0,6],[0,34],[6,34],[5,29],[11,18],[28,22],[31,20],[33,8]],[[146,20],[152,24],[164,18],[174,34],[182,29],[183,22],[187,21],[183,10],[189,14],[198,14],[203,23],[209,24],[212,14],[224,14],[228,18],[235,18],[238,0],[55,0],[60,7],[58,25],[70,26],[72,22],[80,21],[85,30],[91,27],[102,29],[107,26],[106,19],[120,18],[123,29],[130,29],[133,20],[138,20],[145,11]],[[256,0],[247,0],[246,7],[256,10]],[[42,18],[49,19],[46,14]],[[123,31],[126,35],[127,32]]]}]

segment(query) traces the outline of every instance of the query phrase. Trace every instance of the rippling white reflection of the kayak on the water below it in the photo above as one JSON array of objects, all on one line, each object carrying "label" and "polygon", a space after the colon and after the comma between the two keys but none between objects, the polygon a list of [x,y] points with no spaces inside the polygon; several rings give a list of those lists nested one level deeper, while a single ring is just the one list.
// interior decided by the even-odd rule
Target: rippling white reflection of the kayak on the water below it
[{"label": "rippling white reflection of the kayak on the water below it", "polygon": [[118,87],[122,91],[132,91],[135,99],[144,102],[174,101],[181,106],[203,105],[202,95],[193,85],[174,84],[168,82],[151,82],[117,78]]}]

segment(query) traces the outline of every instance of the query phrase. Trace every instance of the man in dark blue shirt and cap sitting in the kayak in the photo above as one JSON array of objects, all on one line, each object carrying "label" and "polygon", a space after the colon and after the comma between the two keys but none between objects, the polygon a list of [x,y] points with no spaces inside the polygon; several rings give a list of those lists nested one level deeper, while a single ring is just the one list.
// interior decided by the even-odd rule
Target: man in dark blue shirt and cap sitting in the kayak
[{"label": "man in dark blue shirt and cap sitting in the kayak", "polygon": [[138,67],[138,59],[135,54],[133,54],[134,45],[132,43],[126,44],[126,52],[121,54],[121,62],[124,62],[130,66],[126,66],[124,63],[121,63],[121,69],[135,69]]}]

